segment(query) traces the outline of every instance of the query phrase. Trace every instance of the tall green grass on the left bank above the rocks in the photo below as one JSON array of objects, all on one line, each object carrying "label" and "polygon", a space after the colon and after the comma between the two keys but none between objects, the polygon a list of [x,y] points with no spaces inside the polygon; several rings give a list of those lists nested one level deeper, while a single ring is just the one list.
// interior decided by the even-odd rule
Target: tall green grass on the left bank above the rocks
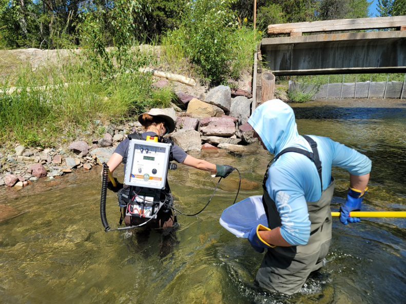
[{"label": "tall green grass on the left bank above the rocks", "polygon": [[[151,87],[151,75],[121,71],[104,77],[83,56],[16,74],[0,86],[2,145],[55,146],[89,134],[85,131],[91,136],[95,120],[122,123],[149,108],[167,107],[173,98],[170,88]],[[17,88],[12,94],[5,92],[9,83]]]}]

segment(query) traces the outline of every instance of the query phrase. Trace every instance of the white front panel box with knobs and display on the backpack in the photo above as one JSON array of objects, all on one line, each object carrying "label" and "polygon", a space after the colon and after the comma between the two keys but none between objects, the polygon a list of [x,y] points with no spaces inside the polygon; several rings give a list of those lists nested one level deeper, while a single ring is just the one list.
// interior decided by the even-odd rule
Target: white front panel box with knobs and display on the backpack
[{"label": "white front panel box with knobs and display on the backpack", "polygon": [[129,186],[164,189],[170,144],[131,139],[124,183]]}]

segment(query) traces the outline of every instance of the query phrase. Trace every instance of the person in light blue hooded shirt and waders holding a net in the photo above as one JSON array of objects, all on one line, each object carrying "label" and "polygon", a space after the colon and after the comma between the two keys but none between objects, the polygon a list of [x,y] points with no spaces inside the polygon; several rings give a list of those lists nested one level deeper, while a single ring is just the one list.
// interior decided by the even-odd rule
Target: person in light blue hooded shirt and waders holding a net
[{"label": "person in light blue hooded shirt and waders holding a net", "polygon": [[279,99],[259,106],[248,124],[262,147],[275,155],[263,180],[268,227],[253,227],[248,236],[256,251],[267,249],[256,282],[267,291],[294,294],[322,267],[330,247],[332,167],[350,173],[340,210],[340,221],[347,225],[359,221],[349,213],[361,208],[371,160],[330,138],[299,135],[293,109]]}]

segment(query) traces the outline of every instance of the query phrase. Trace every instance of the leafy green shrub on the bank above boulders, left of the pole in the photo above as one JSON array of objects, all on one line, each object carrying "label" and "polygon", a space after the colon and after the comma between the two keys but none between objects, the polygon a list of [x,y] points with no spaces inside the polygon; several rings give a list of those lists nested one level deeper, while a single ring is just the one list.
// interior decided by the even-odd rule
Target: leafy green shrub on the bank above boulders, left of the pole
[{"label": "leafy green shrub on the bank above boulders, left of the pole", "polygon": [[164,56],[177,66],[189,60],[210,85],[225,84],[238,78],[252,64],[260,35],[238,28],[230,0],[190,2],[183,22],[163,39]]}]

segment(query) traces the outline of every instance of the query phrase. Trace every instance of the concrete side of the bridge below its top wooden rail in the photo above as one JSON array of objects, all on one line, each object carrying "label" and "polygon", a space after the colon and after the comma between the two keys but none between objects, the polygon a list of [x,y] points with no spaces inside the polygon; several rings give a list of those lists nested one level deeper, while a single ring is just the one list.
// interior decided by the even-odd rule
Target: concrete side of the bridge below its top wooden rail
[{"label": "concrete side of the bridge below its top wooden rail", "polygon": [[275,75],[406,72],[406,31],[264,38]]}]

